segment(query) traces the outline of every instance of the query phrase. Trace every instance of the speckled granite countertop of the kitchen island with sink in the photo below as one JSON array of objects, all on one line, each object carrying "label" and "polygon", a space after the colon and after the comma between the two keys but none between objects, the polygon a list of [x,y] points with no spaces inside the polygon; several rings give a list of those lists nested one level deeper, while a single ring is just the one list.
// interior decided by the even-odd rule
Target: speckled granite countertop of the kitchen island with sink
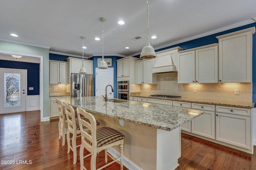
[{"label": "speckled granite countertop of the kitchen island with sink", "polygon": [[[120,103],[105,102],[101,96],[61,98],[60,100],[73,107],[82,107],[91,113],[97,113],[166,131],[172,131],[204,113],[198,110],[172,106],[163,107],[159,104],[131,100],[122,100],[124,102]],[[114,100],[120,101],[120,99]]]}]

